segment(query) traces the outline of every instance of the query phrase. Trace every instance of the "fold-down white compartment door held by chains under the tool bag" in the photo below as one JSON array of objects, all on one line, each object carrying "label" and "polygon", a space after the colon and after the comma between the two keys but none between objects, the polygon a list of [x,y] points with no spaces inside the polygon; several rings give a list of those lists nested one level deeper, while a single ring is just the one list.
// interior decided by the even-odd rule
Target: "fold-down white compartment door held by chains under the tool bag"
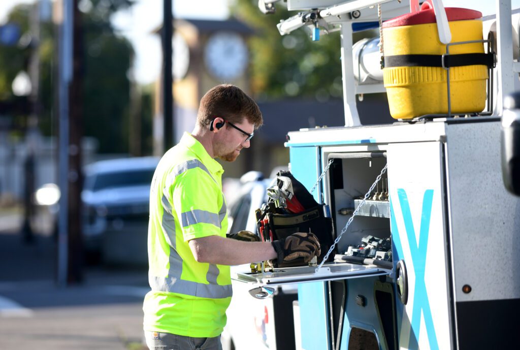
[{"label": "fold-down white compartment door held by chains under the tool bag", "polygon": [[303,282],[332,281],[337,279],[362,278],[389,275],[392,270],[375,265],[350,263],[324,264],[318,271],[317,266],[296,266],[275,268],[264,273],[251,271],[236,272],[231,278],[236,281],[254,284],[254,286],[278,286]]}]

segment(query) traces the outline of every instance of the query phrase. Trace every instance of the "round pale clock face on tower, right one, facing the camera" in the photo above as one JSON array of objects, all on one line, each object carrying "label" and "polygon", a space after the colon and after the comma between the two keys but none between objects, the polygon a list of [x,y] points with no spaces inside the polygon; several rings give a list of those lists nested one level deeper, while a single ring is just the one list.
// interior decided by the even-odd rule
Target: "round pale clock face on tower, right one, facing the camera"
[{"label": "round pale clock face on tower, right one, facing the camera", "polygon": [[217,32],[207,40],[204,62],[217,79],[233,80],[248,66],[248,48],[239,34]]}]

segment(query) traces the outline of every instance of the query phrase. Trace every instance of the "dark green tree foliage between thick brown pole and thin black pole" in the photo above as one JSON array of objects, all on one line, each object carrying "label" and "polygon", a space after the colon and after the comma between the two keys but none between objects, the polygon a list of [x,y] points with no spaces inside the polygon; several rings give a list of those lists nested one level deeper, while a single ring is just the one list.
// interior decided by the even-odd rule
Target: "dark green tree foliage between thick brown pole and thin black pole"
[{"label": "dark green tree foliage between thick brown pole and thin black pole", "polygon": [[85,14],[83,33],[84,134],[102,153],[127,152],[132,46],[95,10]]}]

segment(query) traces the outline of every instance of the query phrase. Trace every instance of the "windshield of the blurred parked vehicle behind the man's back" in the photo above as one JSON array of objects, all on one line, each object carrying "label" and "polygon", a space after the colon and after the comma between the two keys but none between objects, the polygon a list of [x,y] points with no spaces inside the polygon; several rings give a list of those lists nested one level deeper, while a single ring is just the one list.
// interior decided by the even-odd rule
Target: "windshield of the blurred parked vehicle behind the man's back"
[{"label": "windshield of the blurred parked vehicle behind the man's back", "polygon": [[106,188],[150,185],[155,169],[131,170],[98,174],[92,185],[93,191]]}]

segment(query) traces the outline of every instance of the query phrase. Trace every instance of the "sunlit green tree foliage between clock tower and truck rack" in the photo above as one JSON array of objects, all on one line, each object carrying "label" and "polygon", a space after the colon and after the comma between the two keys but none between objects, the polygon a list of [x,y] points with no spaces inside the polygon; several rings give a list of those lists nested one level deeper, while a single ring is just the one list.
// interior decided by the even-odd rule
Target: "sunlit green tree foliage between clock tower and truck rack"
[{"label": "sunlit green tree foliage between clock tower and truck rack", "polygon": [[253,91],[262,97],[315,97],[322,101],[342,95],[339,33],[310,39],[306,29],[281,36],[280,20],[294,16],[277,3],[274,15],[264,15],[254,0],[237,0],[231,11],[256,31],[250,41]]}]

